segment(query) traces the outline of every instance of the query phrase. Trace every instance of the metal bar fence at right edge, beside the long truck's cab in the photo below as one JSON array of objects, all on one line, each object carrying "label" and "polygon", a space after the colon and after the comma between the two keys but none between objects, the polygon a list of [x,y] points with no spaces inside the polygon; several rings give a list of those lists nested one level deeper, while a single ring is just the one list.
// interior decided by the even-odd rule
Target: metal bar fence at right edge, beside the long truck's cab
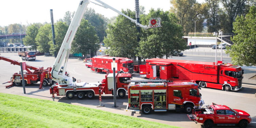
[{"label": "metal bar fence at right edge, beside the long truck's cab", "polygon": [[243,69],[244,70],[244,78],[243,84],[253,84],[256,85],[256,69]]}]

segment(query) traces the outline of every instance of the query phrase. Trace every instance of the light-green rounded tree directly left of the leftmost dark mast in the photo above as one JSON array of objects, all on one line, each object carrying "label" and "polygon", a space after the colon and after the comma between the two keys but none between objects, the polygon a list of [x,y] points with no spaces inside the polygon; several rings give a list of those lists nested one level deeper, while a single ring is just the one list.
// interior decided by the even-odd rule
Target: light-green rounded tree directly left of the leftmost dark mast
[{"label": "light-green rounded tree directly left of the leftmost dark mast", "polygon": [[51,24],[45,24],[38,30],[38,34],[35,38],[35,41],[38,45],[37,48],[40,52],[49,53],[50,45],[48,45],[48,42],[51,41],[49,39],[50,34],[52,34]]}]

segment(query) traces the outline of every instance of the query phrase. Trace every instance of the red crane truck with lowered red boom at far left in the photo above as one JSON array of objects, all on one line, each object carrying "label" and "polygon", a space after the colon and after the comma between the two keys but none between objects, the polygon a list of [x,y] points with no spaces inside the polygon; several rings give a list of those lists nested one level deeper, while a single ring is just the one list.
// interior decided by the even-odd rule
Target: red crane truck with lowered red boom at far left
[{"label": "red crane truck with lowered red boom at far left", "polygon": [[[16,60],[12,60],[12,59],[8,59],[5,57],[0,56],[0,60],[5,60],[8,62],[11,62],[11,64],[13,65],[19,65],[20,66],[20,62],[16,61]],[[26,70],[27,72],[24,73],[24,82],[25,85],[27,84],[33,84],[33,83],[37,83],[40,81],[40,87],[42,88],[43,86],[47,86],[48,83],[52,83],[52,79],[51,79],[51,73],[50,71],[52,70],[51,67],[44,69],[43,67],[40,68],[36,68],[30,65],[26,64]],[[33,70],[33,71],[31,71]],[[54,81],[53,81],[54,82]],[[6,83],[12,83],[9,86],[6,86],[6,88],[11,87],[13,85],[16,86],[20,86],[22,83],[22,76],[20,73],[14,73],[13,76],[11,77],[11,81],[6,82]]]}]

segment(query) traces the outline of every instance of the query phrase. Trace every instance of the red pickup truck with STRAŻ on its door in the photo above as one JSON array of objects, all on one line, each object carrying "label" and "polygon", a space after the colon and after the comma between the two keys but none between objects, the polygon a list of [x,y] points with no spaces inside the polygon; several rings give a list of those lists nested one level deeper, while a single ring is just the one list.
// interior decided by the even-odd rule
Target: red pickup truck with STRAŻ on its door
[{"label": "red pickup truck with STRA\u017b on its door", "polygon": [[238,125],[246,128],[252,122],[250,114],[242,110],[231,109],[226,105],[204,106],[201,109],[194,109],[192,114],[187,114],[190,120],[196,123],[203,123],[205,128],[212,128],[216,125]]}]

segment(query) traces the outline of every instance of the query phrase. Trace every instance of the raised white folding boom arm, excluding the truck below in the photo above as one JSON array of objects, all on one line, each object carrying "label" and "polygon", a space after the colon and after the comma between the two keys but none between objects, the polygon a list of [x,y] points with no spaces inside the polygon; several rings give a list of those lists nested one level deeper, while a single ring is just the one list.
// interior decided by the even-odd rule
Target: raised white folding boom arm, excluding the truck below
[{"label": "raised white folding boom arm, excluding the truck below", "polygon": [[[123,15],[124,17],[128,18],[131,20],[131,22],[135,23],[137,26],[142,27],[144,29],[151,28],[150,26],[145,26],[140,23],[137,23],[136,20],[132,19],[131,17],[125,15],[124,13],[114,9],[110,5],[100,1],[100,0],[95,0],[98,3],[92,2],[96,5],[102,6],[103,8],[106,9],[111,9],[115,11],[116,13]],[[71,24],[69,25],[68,31],[66,33],[66,36],[61,44],[61,47],[59,49],[58,55],[55,59],[53,68],[52,68],[52,80],[57,82],[60,86],[68,86],[73,83],[72,79],[68,76],[66,76],[66,68],[67,68],[67,62],[69,58],[69,53],[71,49],[71,43],[74,39],[75,33],[80,26],[80,22],[83,18],[83,15],[85,13],[85,10],[87,9],[87,5],[91,2],[90,0],[82,0],[79,3],[78,9],[75,12],[75,15],[71,21]],[[160,21],[160,20],[159,20]],[[158,27],[161,27],[159,25]],[[60,72],[61,67],[63,66],[62,73]]]}]

